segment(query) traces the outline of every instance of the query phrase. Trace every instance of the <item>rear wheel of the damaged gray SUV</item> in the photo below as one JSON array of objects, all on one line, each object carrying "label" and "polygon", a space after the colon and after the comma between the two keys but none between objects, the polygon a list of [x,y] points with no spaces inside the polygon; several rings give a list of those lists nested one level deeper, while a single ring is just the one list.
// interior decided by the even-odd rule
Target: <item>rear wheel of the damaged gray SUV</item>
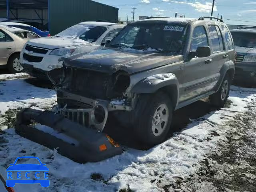
[{"label": "rear wheel of the damaged gray SUV", "polygon": [[230,91],[230,78],[228,75],[224,77],[224,80],[220,86],[218,92],[209,96],[210,104],[222,108],[224,107],[225,102],[228,100],[228,95]]}]

